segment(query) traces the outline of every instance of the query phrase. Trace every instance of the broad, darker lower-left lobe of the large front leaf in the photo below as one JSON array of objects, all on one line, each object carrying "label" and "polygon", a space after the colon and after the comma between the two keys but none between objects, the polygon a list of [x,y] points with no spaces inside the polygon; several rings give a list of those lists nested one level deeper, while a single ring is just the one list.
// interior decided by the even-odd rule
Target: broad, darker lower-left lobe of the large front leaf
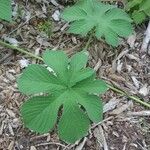
[{"label": "broad, darker lower-left lobe of the large front leaf", "polygon": [[33,97],[21,107],[21,114],[25,126],[37,133],[50,131],[56,121],[61,103],[55,102],[51,96]]}]

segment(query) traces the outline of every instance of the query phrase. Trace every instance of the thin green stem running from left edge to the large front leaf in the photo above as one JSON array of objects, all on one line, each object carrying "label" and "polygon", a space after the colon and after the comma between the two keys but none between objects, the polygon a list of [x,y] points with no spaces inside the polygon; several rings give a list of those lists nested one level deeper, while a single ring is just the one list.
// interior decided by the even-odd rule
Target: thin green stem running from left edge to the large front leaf
[{"label": "thin green stem running from left edge to the large front leaf", "polygon": [[13,46],[13,45],[11,45],[11,44],[8,44],[8,43],[6,43],[6,42],[3,42],[3,41],[1,41],[1,40],[0,40],[0,45],[2,45],[2,46],[4,46],[4,47],[7,47],[7,48],[10,48],[10,49],[13,49],[13,50],[17,50],[17,51],[19,51],[19,52],[21,52],[21,53],[23,53],[23,54],[26,54],[26,55],[28,55],[28,56],[30,56],[30,57],[33,57],[33,58],[36,58],[36,59],[39,59],[39,60],[42,60],[42,61],[43,61],[43,59],[42,59],[41,57],[36,56],[36,55],[34,55],[33,53],[30,53],[30,52],[28,52],[27,50],[24,50],[24,49],[19,48],[19,47],[17,47],[17,46]]}]

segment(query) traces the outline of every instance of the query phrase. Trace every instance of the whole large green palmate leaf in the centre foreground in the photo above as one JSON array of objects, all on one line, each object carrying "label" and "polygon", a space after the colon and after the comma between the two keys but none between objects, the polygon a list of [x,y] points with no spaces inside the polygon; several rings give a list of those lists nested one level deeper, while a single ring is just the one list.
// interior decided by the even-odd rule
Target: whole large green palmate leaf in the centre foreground
[{"label": "whole large green palmate leaf in the centre foreground", "polygon": [[[32,95],[21,107],[23,121],[29,129],[46,133],[55,126],[61,109],[59,136],[74,143],[87,134],[90,121],[102,120],[102,101],[97,95],[108,88],[104,81],[95,79],[91,68],[85,68],[88,55],[84,51],[68,59],[63,51],[47,50],[43,59],[54,73],[41,65],[30,65],[18,79],[19,90]],[[41,92],[43,96],[34,96]]]}]

